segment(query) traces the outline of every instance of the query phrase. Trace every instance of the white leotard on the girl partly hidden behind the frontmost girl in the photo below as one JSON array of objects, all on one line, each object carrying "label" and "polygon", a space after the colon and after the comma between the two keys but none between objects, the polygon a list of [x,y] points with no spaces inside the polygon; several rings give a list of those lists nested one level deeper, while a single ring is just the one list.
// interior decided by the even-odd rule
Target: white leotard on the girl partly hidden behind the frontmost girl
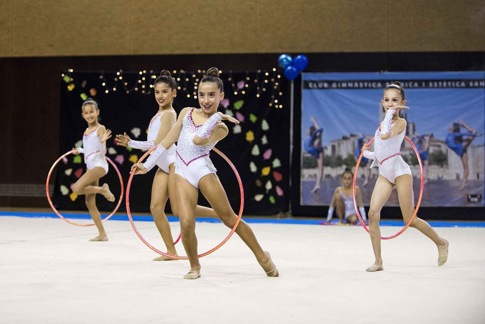
[{"label": "white leotard on the girl partly hidden behind the frontmost girl", "polygon": [[[152,117],[150,120],[150,124],[148,125],[148,134],[146,136],[147,141],[129,141],[128,146],[133,148],[139,149],[150,149],[155,146],[155,140],[157,139],[158,132],[162,125],[162,115],[166,112],[162,111],[157,113],[155,116]],[[174,112],[175,113],[175,112]],[[175,123],[177,122],[177,113],[175,113],[175,122],[172,125],[174,127]],[[157,165],[165,172],[170,173],[169,165],[175,161],[175,150],[177,146],[174,144],[170,149],[169,152],[157,161]]]}]

